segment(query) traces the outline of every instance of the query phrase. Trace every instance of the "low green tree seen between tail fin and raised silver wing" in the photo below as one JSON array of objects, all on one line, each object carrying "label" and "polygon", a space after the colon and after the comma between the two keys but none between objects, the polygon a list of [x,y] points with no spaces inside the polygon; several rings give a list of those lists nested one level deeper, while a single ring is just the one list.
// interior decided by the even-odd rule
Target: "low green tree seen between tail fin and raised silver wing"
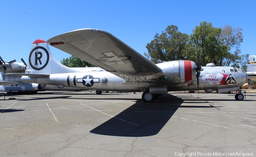
[{"label": "low green tree seen between tail fin and raised silver wing", "polygon": [[66,58],[66,59],[63,58],[60,63],[65,65],[65,66],[67,66],[67,67],[69,67],[69,68],[86,67],[86,66],[88,66],[88,67],[95,67],[94,65],[92,65],[92,64],[90,64],[90,63],[88,63],[86,61],[83,61],[82,59],[77,58],[77,57],[75,57],[73,55],[71,57],[69,57],[69,58]]}]

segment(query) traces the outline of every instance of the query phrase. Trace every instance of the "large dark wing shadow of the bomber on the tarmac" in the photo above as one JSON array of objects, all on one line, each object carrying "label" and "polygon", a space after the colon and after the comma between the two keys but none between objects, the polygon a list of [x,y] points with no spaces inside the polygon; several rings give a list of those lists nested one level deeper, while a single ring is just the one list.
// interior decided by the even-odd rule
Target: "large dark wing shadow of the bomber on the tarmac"
[{"label": "large dark wing shadow of the bomber on the tarmac", "polygon": [[90,132],[108,136],[153,136],[158,134],[179,107],[214,108],[214,106],[181,106],[183,100],[171,94],[161,96],[160,99],[163,104],[140,103],[141,100],[138,100],[131,107],[128,107]]}]

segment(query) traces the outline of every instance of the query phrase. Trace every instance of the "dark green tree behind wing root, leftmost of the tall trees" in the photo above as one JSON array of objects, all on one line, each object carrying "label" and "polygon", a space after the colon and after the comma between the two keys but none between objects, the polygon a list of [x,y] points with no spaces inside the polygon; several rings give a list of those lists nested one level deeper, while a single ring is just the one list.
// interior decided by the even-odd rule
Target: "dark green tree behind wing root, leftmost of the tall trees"
[{"label": "dark green tree behind wing root, leftmost of the tall trees", "polygon": [[189,35],[179,32],[177,26],[168,25],[161,35],[156,33],[147,44],[148,53],[144,52],[144,55],[153,63],[184,59],[182,50],[188,39]]}]

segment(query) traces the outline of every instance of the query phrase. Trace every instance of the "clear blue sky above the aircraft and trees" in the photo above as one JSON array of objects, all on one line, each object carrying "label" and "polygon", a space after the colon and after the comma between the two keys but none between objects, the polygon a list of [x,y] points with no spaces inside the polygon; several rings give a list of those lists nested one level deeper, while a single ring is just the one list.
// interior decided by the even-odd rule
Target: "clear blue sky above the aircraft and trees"
[{"label": "clear blue sky above the aircraft and trees", "polygon": [[[256,55],[256,1],[0,1],[0,55],[5,61],[26,62],[36,39],[81,28],[108,31],[137,52],[168,25],[190,35],[200,21],[214,27],[243,29],[242,54]],[[57,61],[69,54],[49,46]]]}]

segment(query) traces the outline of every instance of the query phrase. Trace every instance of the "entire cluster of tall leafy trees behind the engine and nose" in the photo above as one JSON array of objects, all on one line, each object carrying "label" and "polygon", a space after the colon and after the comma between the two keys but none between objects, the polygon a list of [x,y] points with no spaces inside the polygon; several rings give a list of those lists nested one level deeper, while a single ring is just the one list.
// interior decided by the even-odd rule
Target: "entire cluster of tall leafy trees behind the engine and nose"
[{"label": "entire cluster of tall leafy trees behind the engine and nose", "polygon": [[196,61],[205,66],[214,63],[216,66],[236,66],[239,63],[246,70],[248,54],[241,55],[240,45],[243,42],[242,29],[230,25],[215,28],[212,23],[200,22],[190,36],[178,31],[174,25],[168,26],[161,35],[156,34],[147,44],[146,58],[153,63],[185,59]]}]

